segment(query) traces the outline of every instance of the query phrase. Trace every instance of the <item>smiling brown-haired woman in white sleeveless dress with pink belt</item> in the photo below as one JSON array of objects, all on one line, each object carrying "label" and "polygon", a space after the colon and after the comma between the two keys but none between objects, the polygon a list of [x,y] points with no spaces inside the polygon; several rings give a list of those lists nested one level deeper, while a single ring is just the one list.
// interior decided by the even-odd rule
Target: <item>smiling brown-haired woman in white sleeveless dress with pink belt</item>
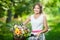
[{"label": "smiling brown-haired woman in white sleeveless dress with pink belt", "polygon": [[23,24],[26,25],[29,21],[32,25],[31,34],[34,37],[30,37],[29,40],[45,40],[44,33],[48,31],[46,16],[42,13],[41,4],[37,3],[33,6],[34,14],[32,14]]}]

